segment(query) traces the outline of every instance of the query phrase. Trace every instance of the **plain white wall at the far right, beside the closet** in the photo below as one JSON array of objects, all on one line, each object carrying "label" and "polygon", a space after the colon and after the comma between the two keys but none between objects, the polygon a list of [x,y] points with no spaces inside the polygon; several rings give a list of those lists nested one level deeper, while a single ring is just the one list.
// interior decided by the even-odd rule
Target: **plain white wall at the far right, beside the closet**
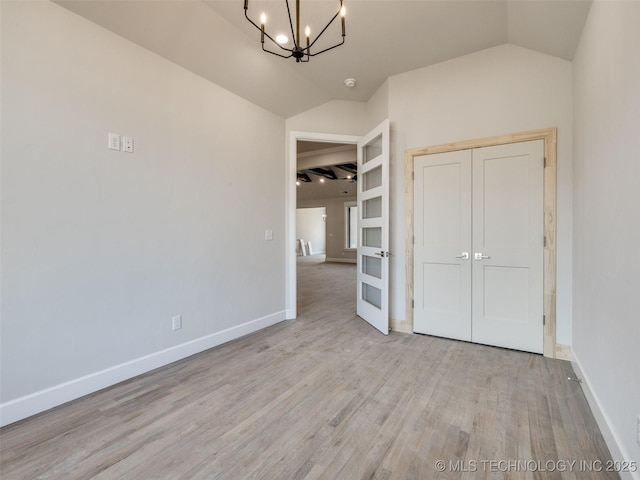
[{"label": "plain white wall at the far right, beside the closet", "polygon": [[640,467],[638,25],[640,3],[594,2],[574,59],[573,350],[612,454]]}]

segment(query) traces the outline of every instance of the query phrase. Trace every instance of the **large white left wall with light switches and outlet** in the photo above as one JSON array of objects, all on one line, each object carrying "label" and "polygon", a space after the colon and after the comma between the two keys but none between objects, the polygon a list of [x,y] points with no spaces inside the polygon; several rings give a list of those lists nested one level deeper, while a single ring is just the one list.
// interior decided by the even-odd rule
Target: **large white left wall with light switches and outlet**
[{"label": "large white left wall with light switches and outlet", "polygon": [[3,423],[284,318],[283,119],[51,2],[2,102]]}]

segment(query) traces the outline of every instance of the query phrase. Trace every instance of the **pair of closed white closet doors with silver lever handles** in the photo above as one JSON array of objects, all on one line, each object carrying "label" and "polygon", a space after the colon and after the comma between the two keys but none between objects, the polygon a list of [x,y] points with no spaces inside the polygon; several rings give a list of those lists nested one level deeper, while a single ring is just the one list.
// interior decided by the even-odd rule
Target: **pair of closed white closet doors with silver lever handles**
[{"label": "pair of closed white closet doors with silver lever handles", "polygon": [[543,171],[543,140],[415,158],[415,332],[542,353]]}]

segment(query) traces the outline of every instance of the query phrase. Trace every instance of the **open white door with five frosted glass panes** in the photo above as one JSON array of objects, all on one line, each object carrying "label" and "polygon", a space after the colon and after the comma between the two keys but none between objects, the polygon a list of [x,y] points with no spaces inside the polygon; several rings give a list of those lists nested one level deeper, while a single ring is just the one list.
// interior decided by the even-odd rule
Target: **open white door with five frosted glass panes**
[{"label": "open white door with five frosted glass panes", "polygon": [[358,142],[358,316],[389,333],[389,120]]}]

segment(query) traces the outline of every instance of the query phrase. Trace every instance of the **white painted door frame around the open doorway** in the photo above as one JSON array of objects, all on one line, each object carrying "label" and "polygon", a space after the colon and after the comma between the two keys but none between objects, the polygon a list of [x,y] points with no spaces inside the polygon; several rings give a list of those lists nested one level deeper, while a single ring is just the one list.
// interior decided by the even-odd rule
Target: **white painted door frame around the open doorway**
[{"label": "white painted door frame around the open doorway", "polygon": [[297,317],[296,262],[296,172],[298,171],[298,140],[309,142],[351,143],[357,145],[362,135],[342,135],[315,132],[289,132],[289,161],[285,169],[285,318]]}]

